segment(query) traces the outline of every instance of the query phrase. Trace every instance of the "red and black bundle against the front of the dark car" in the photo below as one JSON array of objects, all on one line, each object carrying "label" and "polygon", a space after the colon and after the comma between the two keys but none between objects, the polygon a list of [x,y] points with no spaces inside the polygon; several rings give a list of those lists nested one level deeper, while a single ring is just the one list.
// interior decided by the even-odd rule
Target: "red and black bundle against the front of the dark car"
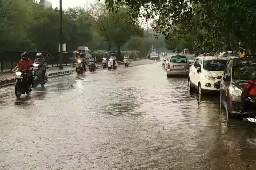
[{"label": "red and black bundle against the front of the dark car", "polygon": [[242,92],[242,103],[244,108],[255,107],[256,104],[256,81],[248,80]]}]

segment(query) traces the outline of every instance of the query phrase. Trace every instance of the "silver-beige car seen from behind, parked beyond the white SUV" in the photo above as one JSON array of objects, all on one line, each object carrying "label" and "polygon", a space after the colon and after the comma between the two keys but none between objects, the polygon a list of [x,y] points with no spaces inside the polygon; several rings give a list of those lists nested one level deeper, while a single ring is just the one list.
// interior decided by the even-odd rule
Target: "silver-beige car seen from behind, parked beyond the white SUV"
[{"label": "silver-beige car seen from behind, parked beyond the white SUV", "polygon": [[189,62],[186,55],[172,55],[167,65],[167,77],[173,75],[187,76],[189,74]]}]

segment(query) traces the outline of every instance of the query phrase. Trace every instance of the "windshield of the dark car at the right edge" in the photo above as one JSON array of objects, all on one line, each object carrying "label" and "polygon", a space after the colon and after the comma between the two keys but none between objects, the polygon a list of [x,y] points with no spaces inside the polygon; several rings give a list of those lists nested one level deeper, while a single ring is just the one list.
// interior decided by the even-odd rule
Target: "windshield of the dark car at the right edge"
[{"label": "windshield of the dark car at the right edge", "polygon": [[235,80],[255,80],[256,60],[241,61],[234,64],[233,77]]}]

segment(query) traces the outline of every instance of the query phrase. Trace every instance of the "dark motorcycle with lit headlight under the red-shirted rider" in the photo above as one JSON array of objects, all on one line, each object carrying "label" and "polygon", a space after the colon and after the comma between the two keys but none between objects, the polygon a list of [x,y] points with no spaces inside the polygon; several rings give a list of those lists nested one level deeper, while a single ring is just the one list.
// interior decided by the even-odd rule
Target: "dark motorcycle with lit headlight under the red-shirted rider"
[{"label": "dark motorcycle with lit headlight under the red-shirted rider", "polygon": [[20,69],[16,69],[15,71],[15,96],[20,98],[22,94],[30,95],[31,89],[28,81],[27,74],[23,71],[19,71]]}]

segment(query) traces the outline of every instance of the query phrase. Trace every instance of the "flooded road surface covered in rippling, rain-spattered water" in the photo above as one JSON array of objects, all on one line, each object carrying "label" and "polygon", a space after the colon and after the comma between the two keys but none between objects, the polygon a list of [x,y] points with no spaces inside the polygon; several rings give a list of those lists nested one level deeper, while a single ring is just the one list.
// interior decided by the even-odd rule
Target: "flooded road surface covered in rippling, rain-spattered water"
[{"label": "flooded road surface covered in rippling, rain-spattered water", "polygon": [[56,79],[0,99],[0,169],[255,169],[256,125],[218,100],[161,62]]}]

